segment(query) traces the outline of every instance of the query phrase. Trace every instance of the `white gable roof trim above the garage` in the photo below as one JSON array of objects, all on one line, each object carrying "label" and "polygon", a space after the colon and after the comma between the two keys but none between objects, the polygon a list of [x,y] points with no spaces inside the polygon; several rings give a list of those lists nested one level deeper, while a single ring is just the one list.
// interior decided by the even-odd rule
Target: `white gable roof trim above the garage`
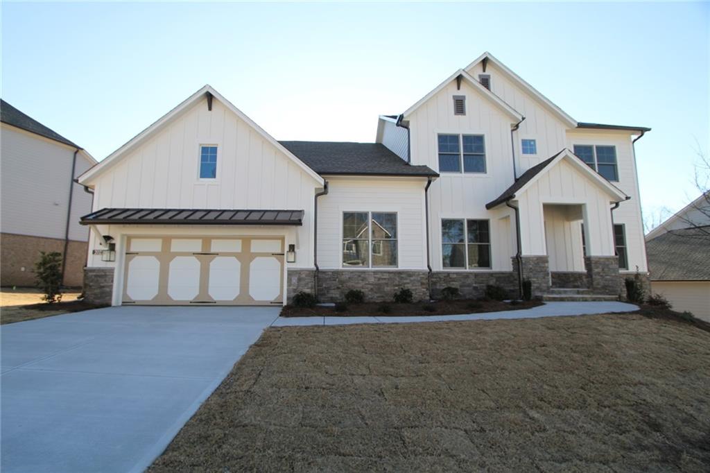
[{"label": "white gable roof trim above the garage", "polygon": [[193,104],[202,100],[206,95],[207,97],[211,96],[214,97],[214,99],[219,100],[219,102],[221,102],[224,107],[229,109],[236,116],[238,116],[239,119],[251,126],[251,128],[253,128],[258,134],[260,134],[262,138],[266,139],[266,141],[268,141],[279,151],[284,153],[296,165],[298,165],[302,170],[304,170],[305,173],[310,175],[317,183],[321,185],[323,184],[324,181],[323,178],[320,177],[320,175],[318,175],[314,170],[309,168],[305,163],[300,161],[300,159],[294,156],[293,153],[288,151],[288,149],[284,148],[278,141],[275,140],[275,138],[273,138],[273,136],[266,133],[266,131],[264,131],[261,126],[258,126],[252,119],[249,118],[249,116],[246,116],[244,112],[241,112],[241,110],[234,107],[234,105],[231,104],[229,100],[222,97],[222,94],[219,94],[219,92],[213,89],[210,85],[205,85],[200,90],[190,95],[190,97],[187,97],[187,99],[185,99],[177,107],[160,117],[158,121],[155,121],[155,123],[153,123],[151,126],[148,126],[148,128],[141,131],[141,133],[131,138],[131,140],[128,141],[128,143],[124,144],[124,146],[121,146],[121,148],[111,153],[106,159],[101,161],[99,164],[95,165],[93,168],[90,168],[84,174],[80,175],[78,179],[79,182],[82,184],[87,183],[89,179],[95,178],[97,175],[104,172],[104,170],[109,169],[112,165],[120,161],[122,157],[126,156],[126,154],[128,154],[131,150],[136,148],[136,146],[146,141],[147,138],[153,136],[153,134],[155,134],[155,132],[158,131],[163,125],[167,124],[170,120],[175,118],[175,116],[178,116],[180,112],[184,112],[185,110],[189,109]]}]

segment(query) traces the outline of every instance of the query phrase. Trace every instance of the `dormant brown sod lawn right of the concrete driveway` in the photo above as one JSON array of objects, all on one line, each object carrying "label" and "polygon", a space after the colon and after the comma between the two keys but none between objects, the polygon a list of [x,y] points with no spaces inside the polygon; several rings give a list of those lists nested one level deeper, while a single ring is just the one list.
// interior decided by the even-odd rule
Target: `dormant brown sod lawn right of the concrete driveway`
[{"label": "dormant brown sod lawn right of the concrete driveway", "polygon": [[149,471],[708,464],[710,332],[623,314],[271,328]]}]

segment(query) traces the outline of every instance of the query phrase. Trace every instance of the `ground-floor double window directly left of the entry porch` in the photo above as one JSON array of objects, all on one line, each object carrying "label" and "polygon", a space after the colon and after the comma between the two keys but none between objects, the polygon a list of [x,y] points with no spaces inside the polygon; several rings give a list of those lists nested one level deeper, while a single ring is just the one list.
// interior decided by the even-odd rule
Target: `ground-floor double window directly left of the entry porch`
[{"label": "ground-floor double window directly left of the entry porch", "polygon": [[488,220],[442,220],[444,268],[491,268]]}]

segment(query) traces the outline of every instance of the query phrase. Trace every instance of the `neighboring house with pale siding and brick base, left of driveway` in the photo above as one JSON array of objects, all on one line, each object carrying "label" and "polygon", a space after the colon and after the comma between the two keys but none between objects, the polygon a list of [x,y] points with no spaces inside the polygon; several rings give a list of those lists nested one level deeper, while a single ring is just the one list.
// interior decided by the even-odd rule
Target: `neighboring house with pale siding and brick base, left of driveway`
[{"label": "neighboring house with pale siding and brick base, left of driveway", "polygon": [[92,196],[74,182],[96,164],[80,146],[0,102],[0,279],[34,286],[40,251],[58,251],[65,286],[82,286]]}]

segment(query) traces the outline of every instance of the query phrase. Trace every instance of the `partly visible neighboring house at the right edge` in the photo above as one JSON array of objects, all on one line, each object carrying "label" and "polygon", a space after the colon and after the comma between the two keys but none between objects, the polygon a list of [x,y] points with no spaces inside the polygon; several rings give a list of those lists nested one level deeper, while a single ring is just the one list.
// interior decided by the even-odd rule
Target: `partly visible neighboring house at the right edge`
[{"label": "partly visible neighboring house at the right edge", "polygon": [[651,290],[674,310],[710,322],[710,195],[698,197],[646,235]]}]

